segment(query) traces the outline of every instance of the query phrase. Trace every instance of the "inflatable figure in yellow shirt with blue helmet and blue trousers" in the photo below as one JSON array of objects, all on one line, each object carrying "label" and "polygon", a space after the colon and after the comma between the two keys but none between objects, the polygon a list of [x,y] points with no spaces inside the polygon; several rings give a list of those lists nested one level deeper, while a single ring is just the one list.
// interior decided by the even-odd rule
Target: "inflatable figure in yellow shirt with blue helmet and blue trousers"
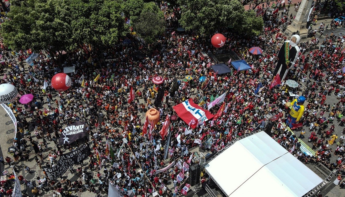
[{"label": "inflatable figure in yellow shirt with blue helmet and blue trousers", "polygon": [[304,96],[299,96],[295,100],[291,102],[291,110],[290,113],[286,119],[286,124],[289,125],[290,128],[292,128],[292,124],[297,124],[298,121],[301,119],[303,113],[304,113],[304,106],[303,103],[305,102]]}]

